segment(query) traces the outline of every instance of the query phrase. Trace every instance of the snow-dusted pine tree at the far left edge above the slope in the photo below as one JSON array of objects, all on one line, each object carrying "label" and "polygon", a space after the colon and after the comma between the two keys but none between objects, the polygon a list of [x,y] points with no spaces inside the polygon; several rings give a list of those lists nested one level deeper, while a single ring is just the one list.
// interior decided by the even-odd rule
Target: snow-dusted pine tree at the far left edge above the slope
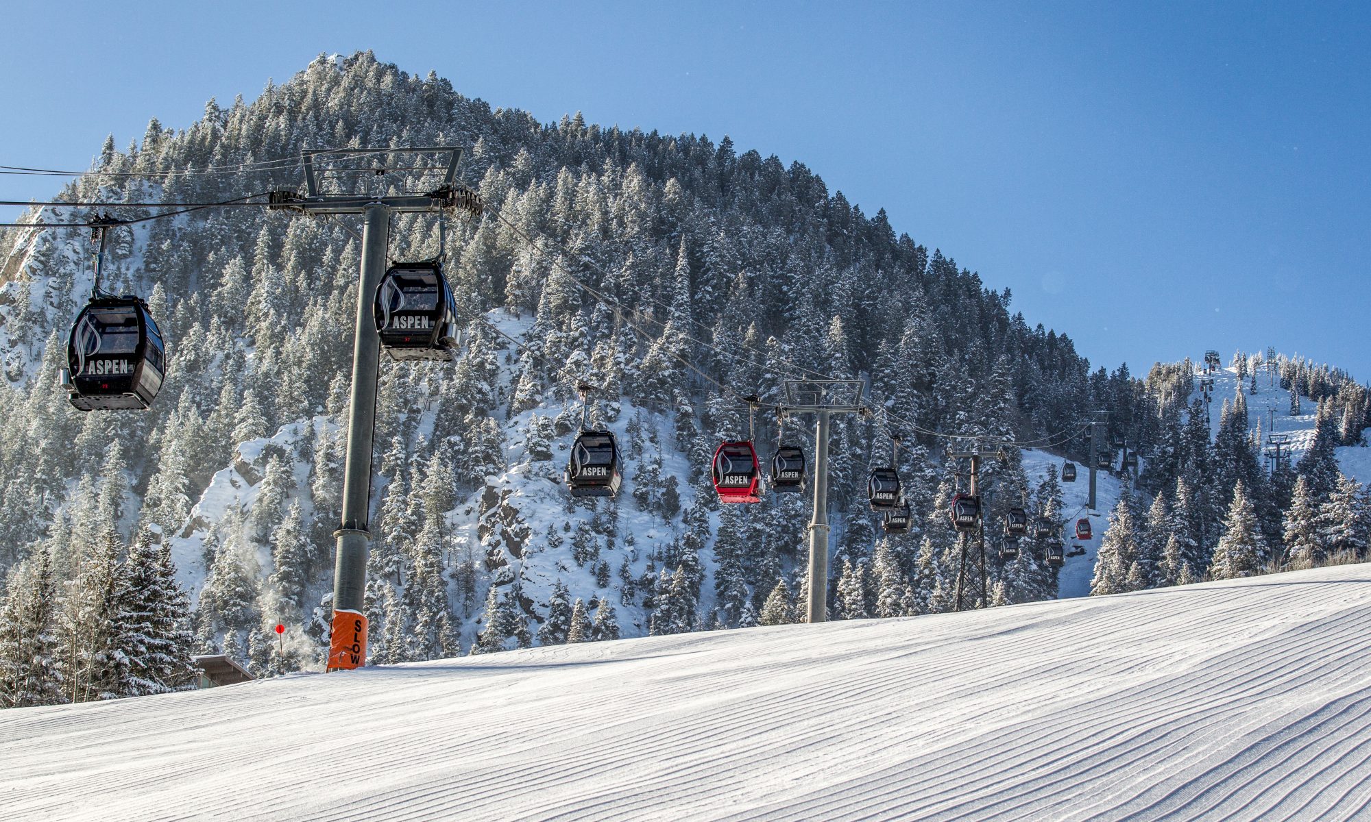
[{"label": "snow-dusted pine tree at the far left edge above the slope", "polygon": [[58,586],[47,551],[10,569],[0,606],[0,708],[66,701],[56,611]]}]

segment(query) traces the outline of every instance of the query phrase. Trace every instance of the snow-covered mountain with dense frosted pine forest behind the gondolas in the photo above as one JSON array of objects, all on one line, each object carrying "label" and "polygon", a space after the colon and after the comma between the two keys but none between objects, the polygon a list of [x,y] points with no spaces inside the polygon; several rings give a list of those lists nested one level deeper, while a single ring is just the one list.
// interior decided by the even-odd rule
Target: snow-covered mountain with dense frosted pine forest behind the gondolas
[{"label": "snow-covered mountain with dense frosted pine forest behind the gondolas", "polygon": [[[720,506],[706,466],[720,440],[747,434],[765,458],[777,419],[768,410],[750,421],[739,397],[776,403],[787,378],[816,371],[869,378],[877,411],[834,423],[835,616],[950,607],[946,506],[965,481],[965,464],[943,456],[954,436],[1006,445],[980,478],[995,500],[991,599],[1086,595],[1126,484],[1106,475],[1097,510],[1084,511],[1084,471],[1075,484],[1046,478],[1087,453],[1095,410],[1109,412],[1111,434],[1142,441],[1143,496],[1186,480],[1197,574],[1208,566],[1230,467],[1243,460],[1233,443],[1213,451],[1208,429],[1182,429],[1189,363],[1146,379],[1123,366],[1091,370],[1069,337],[1012,312],[1008,290],[986,289],[883,211],[866,216],[803,164],[739,153],[727,137],[625,132],[579,115],[540,123],[362,52],[315,60],[251,103],[211,100],[181,130],[152,121],[126,151],[108,142],[60,197],[225,200],[295,188],[304,148],[414,144],[469,148],[462,177],[488,210],[446,234],[465,355],[381,369],[367,589],[376,662],[559,644],[573,615],[594,619],[598,637],[679,633],[772,621],[775,595],[773,616],[791,618],[781,606],[803,585],[808,497]],[[252,164],[281,158],[292,162]],[[112,232],[106,288],[145,295],[169,341],[169,378],[147,414],[80,414],[52,384],[92,285],[86,236],[0,233],[0,577],[48,555],[58,582],[73,584],[93,547],[147,529],[192,595],[199,649],[241,656],[259,674],[319,667],[356,304],[347,219],[203,210]],[[396,216],[388,251],[435,255],[436,221]],[[1366,392],[1346,375],[1307,371],[1305,390],[1328,414],[1366,418]],[[598,388],[590,419],[625,453],[614,503],[573,501],[559,486],[581,379]],[[791,419],[784,437],[809,447],[810,426]],[[916,527],[886,537],[864,488],[893,434],[903,436],[898,467]],[[1041,548],[999,558],[994,534],[1026,496],[1068,529],[1080,516],[1095,525],[1060,574]],[[1287,503],[1271,495],[1268,519]],[[284,658],[273,653],[276,623]]]}]

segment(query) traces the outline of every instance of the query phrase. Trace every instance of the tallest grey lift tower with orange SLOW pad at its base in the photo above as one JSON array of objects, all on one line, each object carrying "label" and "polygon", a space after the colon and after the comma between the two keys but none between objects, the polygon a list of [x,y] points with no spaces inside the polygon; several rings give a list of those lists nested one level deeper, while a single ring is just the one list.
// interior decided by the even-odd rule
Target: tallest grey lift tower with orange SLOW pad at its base
[{"label": "tallest grey lift tower with orange SLOW pad at its base", "polygon": [[462,149],[452,147],[306,151],[304,195],[270,195],[274,210],[315,216],[363,215],[347,462],[343,469],[343,516],[339,530],[333,533],[337,538],[337,555],[333,566],[330,671],[366,664],[367,618],[363,596],[366,560],[372,547],[372,452],[381,356],[373,299],[385,274],[391,215],[439,214],[446,210],[480,215],[480,197],[455,185],[461,159]]}]

